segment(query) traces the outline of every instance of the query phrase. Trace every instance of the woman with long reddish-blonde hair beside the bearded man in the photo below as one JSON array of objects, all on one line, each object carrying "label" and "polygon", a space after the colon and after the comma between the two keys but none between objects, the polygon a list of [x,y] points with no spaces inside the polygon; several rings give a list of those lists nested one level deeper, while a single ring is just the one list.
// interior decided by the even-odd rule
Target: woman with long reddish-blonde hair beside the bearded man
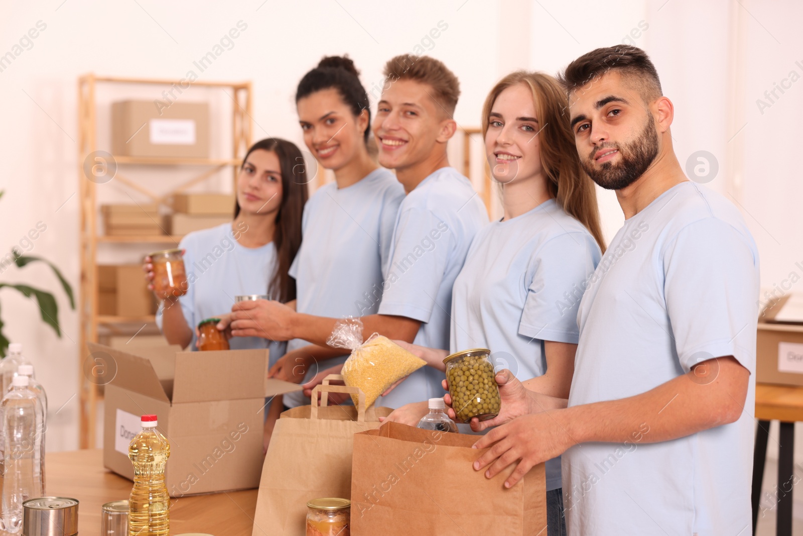
[{"label": "woman with long reddish-blonde hair beside the bearded man", "polygon": [[[483,137],[504,216],[471,243],[454,281],[450,330],[452,352],[488,348],[497,370],[558,398],[569,396],[577,308],[605,248],[568,113],[564,90],[540,72],[505,76],[487,96]],[[446,357],[408,347],[430,363]],[[415,425],[426,411],[426,402],[409,404],[388,419]],[[560,459],[548,460],[546,476],[548,534],[565,534]]]}]

